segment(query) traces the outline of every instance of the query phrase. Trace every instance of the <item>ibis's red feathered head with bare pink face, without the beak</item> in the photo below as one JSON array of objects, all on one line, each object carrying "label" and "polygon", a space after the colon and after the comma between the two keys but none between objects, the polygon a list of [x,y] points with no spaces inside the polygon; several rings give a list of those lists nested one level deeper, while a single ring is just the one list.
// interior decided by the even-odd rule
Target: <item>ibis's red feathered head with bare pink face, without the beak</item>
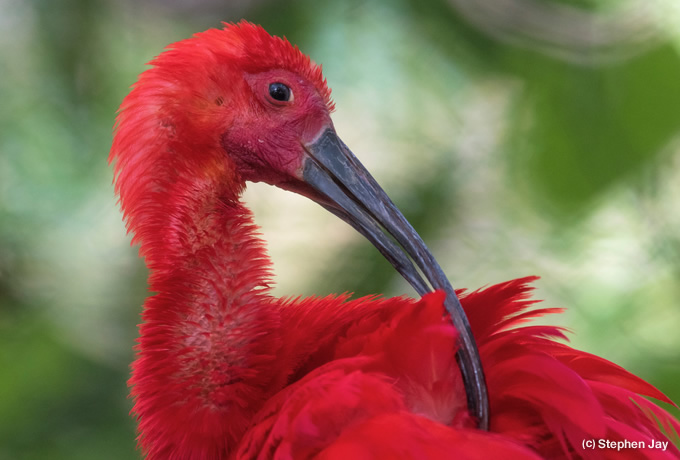
[{"label": "ibis's red feathered head with bare pink face, without the beak", "polygon": [[187,176],[234,195],[245,181],[299,182],[303,145],[332,127],[321,68],[248,22],[170,45],[150,64],[123,101],[111,152],[124,208],[144,188],[128,180],[133,168],[152,189]]}]

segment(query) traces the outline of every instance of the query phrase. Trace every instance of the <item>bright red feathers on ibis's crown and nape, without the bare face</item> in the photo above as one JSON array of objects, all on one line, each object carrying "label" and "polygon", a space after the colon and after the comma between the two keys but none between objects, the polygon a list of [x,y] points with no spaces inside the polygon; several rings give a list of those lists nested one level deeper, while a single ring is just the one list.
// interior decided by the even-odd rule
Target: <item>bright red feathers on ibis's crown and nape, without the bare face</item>
[{"label": "bright red feathers on ibis's crown and nape, without the bare face", "polygon": [[[333,110],[321,66],[297,46],[247,21],[224,26],[169,45],[121,104],[109,161],[115,160],[116,192],[135,241],[160,232],[159,216],[167,210],[169,191],[183,186],[178,182],[229,173],[219,136],[201,134],[221,132],[224,117],[214,115],[224,90],[245,84],[234,75],[289,71],[311,83]],[[189,167],[191,174],[180,173]],[[233,186],[242,187],[238,181]]]}]

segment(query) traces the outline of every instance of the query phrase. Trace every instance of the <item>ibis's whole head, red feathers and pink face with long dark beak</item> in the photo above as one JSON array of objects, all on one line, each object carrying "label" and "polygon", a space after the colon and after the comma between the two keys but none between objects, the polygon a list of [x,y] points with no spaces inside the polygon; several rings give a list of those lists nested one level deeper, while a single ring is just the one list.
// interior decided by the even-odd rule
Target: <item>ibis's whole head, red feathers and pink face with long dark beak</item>
[{"label": "ibis's whole head, red feathers and pink face with long dark beak", "polygon": [[168,210],[192,195],[229,202],[246,181],[303,194],[369,239],[419,294],[446,292],[470,405],[483,420],[467,318],[422,239],[337,136],[321,68],[248,22],[175,43],[151,65],[121,105],[110,156],[142,250],[167,226]]}]

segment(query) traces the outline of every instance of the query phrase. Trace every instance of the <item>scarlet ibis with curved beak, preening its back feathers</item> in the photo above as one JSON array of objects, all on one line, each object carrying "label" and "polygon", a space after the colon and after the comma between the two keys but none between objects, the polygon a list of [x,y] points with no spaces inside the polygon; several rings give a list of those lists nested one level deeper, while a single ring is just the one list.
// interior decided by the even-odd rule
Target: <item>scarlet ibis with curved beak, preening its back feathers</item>
[{"label": "scarlet ibis with curved beak, preening its back feathers", "polygon": [[[666,396],[557,342],[561,328],[525,324],[560,311],[534,307],[534,278],[459,291],[460,308],[335,134],[320,67],[288,41],[241,22],[151,64],[110,156],[156,293],[130,380],[147,458],[678,458],[680,423],[640,395]],[[273,297],[247,181],[319,202],[436,292]]]}]

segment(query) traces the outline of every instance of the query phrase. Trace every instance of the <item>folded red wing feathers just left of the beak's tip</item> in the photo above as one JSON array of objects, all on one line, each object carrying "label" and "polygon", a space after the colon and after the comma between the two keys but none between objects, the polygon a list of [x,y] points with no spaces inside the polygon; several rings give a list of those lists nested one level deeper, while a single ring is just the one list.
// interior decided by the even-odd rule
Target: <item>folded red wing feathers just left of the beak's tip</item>
[{"label": "folded red wing feathers just left of the beak's tip", "polygon": [[[441,293],[373,302],[383,309],[335,326],[344,332],[329,362],[267,402],[237,458],[537,458],[513,439],[463,428],[456,334]],[[370,307],[350,311],[361,308]]]}]

